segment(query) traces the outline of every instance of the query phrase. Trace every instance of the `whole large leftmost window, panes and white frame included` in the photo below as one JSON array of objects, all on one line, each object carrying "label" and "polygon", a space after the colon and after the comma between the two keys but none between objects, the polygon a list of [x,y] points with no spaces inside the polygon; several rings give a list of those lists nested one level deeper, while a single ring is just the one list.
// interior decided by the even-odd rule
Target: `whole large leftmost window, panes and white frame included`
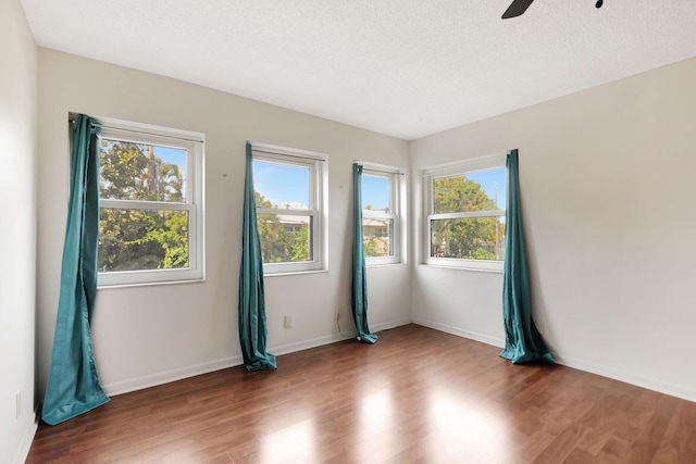
[{"label": "whole large leftmost window, panes and white frame included", "polygon": [[99,285],[203,278],[203,135],[100,120]]}]

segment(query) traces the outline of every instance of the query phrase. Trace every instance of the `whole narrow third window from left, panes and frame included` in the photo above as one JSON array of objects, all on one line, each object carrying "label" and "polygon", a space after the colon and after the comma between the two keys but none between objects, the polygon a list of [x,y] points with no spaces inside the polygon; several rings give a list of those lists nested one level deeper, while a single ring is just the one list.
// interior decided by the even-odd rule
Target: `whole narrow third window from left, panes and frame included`
[{"label": "whole narrow third window from left, panes and frame included", "polygon": [[362,164],[362,239],[366,264],[398,263],[401,255],[401,173]]}]

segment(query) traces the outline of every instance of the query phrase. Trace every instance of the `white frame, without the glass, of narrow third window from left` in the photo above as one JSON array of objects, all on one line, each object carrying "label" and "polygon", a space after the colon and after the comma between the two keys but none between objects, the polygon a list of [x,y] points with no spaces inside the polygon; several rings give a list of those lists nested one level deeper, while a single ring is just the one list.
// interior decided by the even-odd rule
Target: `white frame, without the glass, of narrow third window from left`
[{"label": "white frame, without the glass, of narrow third window from left", "polygon": [[[394,224],[394,243],[391,243],[393,253],[389,256],[365,256],[365,266],[382,266],[388,264],[400,264],[402,263],[403,256],[406,256],[406,252],[403,251],[405,237],[403,231],[406,230],[406,226],[403,224],[405,217],[405,199],[406,192],[402,191],[402,188],[406,186],[403,181],[403,171],[398,167],[386,166],[383,164],[368,163],[368,162],[358,162],[358,164],[362,165],[362,175],[363,176],[372,176],[372,177],[382,177],[389,179],[389,204],[390,212],[376,212],[369,211],[362,208],[362,218],[376,218],[376,220],[391,220]],[[362,206],[362,205],[361,205]]]}]

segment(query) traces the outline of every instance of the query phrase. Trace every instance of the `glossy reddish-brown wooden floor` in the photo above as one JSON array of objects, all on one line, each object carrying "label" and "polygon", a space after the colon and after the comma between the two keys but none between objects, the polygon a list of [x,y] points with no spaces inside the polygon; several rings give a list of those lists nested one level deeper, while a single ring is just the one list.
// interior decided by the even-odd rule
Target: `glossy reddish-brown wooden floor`
[{"label": "glossy reddish-brown wooden floor", "polygon": [[122,394],[27,463],[696,463],[696,403],[417,325]]}]

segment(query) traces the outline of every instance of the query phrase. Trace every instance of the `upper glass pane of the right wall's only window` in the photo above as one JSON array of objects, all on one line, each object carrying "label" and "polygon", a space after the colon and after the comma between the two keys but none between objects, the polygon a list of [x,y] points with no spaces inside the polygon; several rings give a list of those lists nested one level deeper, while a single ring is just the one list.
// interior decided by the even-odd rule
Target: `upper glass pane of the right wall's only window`
[{"label": "upper glass pane of the right wall's only window", "polygon": [[507,168],[433,179],[433,213],[505,210]]}]

